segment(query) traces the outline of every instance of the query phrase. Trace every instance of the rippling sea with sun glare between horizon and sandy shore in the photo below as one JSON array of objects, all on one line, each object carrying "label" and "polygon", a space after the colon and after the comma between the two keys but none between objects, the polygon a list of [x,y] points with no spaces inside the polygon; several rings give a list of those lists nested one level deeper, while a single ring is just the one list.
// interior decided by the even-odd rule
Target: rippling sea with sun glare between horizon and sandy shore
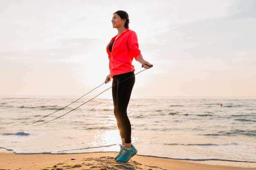
[{"label": "rippling sea with sun glare between horizon and sandy shore", "polygon": [[[83,97],[67,106],[76,99],[0,97],[0,148],[16,154],[119,152],[112,99]],[[137,155],[256,163],[256,97],[132,97],[127,114]]]}]

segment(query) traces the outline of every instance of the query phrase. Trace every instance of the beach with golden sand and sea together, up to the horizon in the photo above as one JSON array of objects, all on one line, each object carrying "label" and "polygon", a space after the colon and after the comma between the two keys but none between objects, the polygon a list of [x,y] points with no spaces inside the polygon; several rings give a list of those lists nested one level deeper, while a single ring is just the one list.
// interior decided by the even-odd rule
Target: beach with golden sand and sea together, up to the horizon
[{"label": "beach with golden sand and sea together, up to the horizon", "polygon": [[138,153],[128,163],[114,159],[122,141],[112,99],[94,99],[60,119],[31,126],[74,100],[2,98],[0,170],[256,169],[256,99],[131,99],[128,115]]}]

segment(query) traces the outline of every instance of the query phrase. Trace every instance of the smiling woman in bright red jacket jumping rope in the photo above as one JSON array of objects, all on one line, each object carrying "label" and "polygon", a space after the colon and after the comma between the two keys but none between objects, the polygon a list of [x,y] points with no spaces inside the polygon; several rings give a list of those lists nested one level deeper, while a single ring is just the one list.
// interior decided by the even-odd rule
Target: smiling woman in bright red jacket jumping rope
[{"label": "smiling woman in bright red jacket jumping rope", "polygon": [[107,46],[110,74],[105,82],[108,83],[113,78],[112,85],[116,84],[112,87],[112,97],[122,145],[120,144],[120,151],[115,160],[127,162],[137,153],[137,149],[131,144],[131,125],[127,116],[127,106],[135,83],[132,60],[135,58],[144,68],[150,68],[150,63],[143,59],[138,49],[137,35],[129,29],[128,14],[125,11],[117,11],[111,21],[113,28],[118,32]]}]

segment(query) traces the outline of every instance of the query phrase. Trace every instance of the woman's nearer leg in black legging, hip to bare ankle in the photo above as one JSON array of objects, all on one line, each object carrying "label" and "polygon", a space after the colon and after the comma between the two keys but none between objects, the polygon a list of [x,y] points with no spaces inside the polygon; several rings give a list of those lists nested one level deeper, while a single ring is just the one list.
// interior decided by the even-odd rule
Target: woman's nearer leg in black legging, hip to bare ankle
[{"label": "woman's nearer leg in black legging, hip to bare ankle", "polygon": [[[121,123],[121,131],[123,132],[125,139],[125,147],[131,148],[131,124],[127,116],[127,107],[130,101],[130,96],[132,93],[132,88],[135,83],[134,72],[124,73],[118,75],[117,82],[121,82],[126,79],[124,82],[121,82],[117,86],[117,110],[116,114]],[[128,77],[131,77],[127,79]]]}]

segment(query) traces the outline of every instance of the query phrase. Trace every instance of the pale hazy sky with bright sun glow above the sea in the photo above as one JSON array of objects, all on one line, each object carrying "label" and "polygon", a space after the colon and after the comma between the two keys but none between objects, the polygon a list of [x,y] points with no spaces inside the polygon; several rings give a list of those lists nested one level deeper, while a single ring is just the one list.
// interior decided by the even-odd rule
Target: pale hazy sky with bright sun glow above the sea
[{"label": "pale hazy sky with bright sun glow above the sea", "polygon": [[[117,35],[112,15],[124,10],[153,64],[136,75],[132,97],[256,96],[255,0],[0,4],[0,95],[83,95],[102,84],[109,74],[106,46]],[[133,65],[135,73],[143,70]]]}]

